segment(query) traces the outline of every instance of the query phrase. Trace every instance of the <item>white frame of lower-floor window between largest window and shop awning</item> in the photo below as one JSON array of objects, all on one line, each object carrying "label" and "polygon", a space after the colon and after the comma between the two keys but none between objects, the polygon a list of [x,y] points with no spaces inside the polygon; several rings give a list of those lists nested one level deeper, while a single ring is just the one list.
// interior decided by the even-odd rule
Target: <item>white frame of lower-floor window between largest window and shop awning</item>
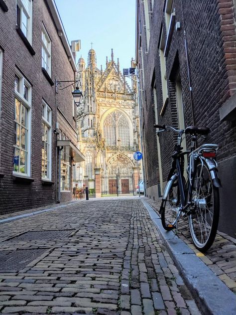
[{"label": "white frame of lower-floor window between largest window and shop awning", "polygon": [[[43,180],[51,180],[52,178],[52,110],[48,106],[48,104],[43,100],[43,115],[42,115],[42,123],[46,125],[49,129],[48,132],[48,167],[47,167],[47,177],[42,176]],[[47,119],[47,113],[49,112],[49,118]],[[45,145],[45,142],[44,142]],[[44,159],[45,161],[45,159]],[[43,174],[42,174],[43,175]]]}]

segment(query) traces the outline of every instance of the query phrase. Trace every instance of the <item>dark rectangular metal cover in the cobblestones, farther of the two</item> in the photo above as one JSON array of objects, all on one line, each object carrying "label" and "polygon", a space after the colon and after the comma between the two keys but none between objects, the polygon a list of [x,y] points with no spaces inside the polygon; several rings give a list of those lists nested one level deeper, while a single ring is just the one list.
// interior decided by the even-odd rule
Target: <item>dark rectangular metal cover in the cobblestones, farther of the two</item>
[{"label": "dark rectangular metal cover in the cobblestones, farther of the two", "polygon": [[57,230],[57,231],[29,231],[19,236],[12,237],[7,241],[31,241],[31,240],[39,240],[39,241],[48,241],[55,240],[59,238],[66,237],[70,235],[72,230]]}]

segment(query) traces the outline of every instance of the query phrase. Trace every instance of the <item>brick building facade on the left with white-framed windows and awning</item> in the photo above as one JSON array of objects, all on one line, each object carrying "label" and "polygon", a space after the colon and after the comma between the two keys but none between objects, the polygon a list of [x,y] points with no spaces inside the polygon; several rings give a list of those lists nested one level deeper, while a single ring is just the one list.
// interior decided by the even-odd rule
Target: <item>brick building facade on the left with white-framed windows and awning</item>
[{"label": "brick building facade on the left with white-framed windows and awning", "polygon": [[55,85],[76,71],[54,0],[0,0],[1,213],[71,199],[83,156],[72,87]]}]

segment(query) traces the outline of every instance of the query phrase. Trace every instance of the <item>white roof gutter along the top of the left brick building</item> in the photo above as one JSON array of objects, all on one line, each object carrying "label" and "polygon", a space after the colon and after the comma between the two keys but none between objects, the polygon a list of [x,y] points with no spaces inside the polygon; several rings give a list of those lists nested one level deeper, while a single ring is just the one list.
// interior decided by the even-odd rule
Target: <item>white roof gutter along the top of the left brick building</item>
[{"label": "white roof gutter along the top of the left brick building", "polygon": [[73,57],[73,54],[71,51],[71,47],[70,47],[68,38],[66,36],[66,32],[65,32],[64,26],[62,24],[61,17],[60,17],[60,14],[58,12],[56,3],[54,0],[46,0],[46,2],[50,8],[51,13],[52,13],[52,17],[53,17],[54,22],[55,22],[56,27],[57,27],[58,36],[61,37],[61,41],[63,43],[65,50],[66,50],[66,53],[67,53],[68,59],[71,63],[71,66],[72,66],[74,71],[77,71],[77,66],[76,66],[76,63],[75,63],[75,60],[74,60],[74,57]]}]

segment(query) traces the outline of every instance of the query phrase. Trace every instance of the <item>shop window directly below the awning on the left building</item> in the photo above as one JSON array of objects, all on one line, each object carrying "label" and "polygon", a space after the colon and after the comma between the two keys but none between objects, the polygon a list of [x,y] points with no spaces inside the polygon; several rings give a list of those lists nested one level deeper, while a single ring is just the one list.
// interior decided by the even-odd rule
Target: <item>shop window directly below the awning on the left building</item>
[{"label": "shop window directly below the awning on the left building", "polygon": [[71,157],[70,147],[61,151],[61,191],[71,190]]}]

